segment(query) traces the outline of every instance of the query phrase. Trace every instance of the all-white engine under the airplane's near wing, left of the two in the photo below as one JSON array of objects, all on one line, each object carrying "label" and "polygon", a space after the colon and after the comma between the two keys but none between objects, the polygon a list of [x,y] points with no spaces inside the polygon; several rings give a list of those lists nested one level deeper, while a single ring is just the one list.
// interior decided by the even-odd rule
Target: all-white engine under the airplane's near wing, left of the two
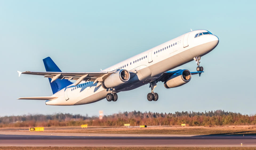
[{"label": "all-white engine under the airplane's near wing, left of the two", "polygon": [[107,89],[107,88],[114,88],[117,86],[121,86],[125,82],[127,82],[130,79],[130,73],[129,71],[123,69],[123,70],[118,70],[108,76],[103,82],[102,82],[102,87]]}]

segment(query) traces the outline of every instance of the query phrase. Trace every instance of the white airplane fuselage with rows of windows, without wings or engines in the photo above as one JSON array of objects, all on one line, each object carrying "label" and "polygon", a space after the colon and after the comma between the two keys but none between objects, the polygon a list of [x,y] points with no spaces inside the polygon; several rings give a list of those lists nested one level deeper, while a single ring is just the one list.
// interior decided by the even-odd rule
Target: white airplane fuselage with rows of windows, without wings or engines
[{"label": "white airplane fuselage with rows of windows, without wings or engines", "polygon": [[[148,84],[159,78],[164,72],[191,62],[197,56],[203,56],[212,51],[219,42],[217,36],[213,34],[195,35],[207,30],[194,30],[185,33],[177,38],[169,40],[159,46],[151,48],[136,56],[126,59],[102,71],[113,71],[118,69],[136,70],[133,78],[119,86],[113,88],[114,93],[128,91]],[[81,105],[94,103],[105,99],[110,89],[102,86],[96,88],[93,82],[84,82],[74,86],[63,88],[53,96],[58,96],[55,100],[47,100],[47,105]]]}]

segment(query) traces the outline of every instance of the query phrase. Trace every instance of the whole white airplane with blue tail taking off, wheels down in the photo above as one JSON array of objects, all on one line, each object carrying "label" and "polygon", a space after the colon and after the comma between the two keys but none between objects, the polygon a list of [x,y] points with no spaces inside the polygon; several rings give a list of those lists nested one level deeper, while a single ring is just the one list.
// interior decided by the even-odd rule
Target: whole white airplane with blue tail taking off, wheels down
[{"label": "whole white airplane with blue tail taking off, wheels down", "polygon": [[[212,51],[219,38],[207,30],[194,30],[135,55],[100,72],[61,72],[50,57],[43,59],[46,72],[18,71],[21,74],[42,75],[49,79],[52,96],[21,97],[18,99],[46,100],[46,105],[82,105],[102,99],[117,101],[118,92],[149,84],[147,100],[157,101],[154,92],[158,82],[165,88],[188,83],[191,76],[201,75],[200,59]],[[170,71],[185,63],[196,61],[196,72],[187,69]],[[70,80],[76,80],[75,83]]]}]

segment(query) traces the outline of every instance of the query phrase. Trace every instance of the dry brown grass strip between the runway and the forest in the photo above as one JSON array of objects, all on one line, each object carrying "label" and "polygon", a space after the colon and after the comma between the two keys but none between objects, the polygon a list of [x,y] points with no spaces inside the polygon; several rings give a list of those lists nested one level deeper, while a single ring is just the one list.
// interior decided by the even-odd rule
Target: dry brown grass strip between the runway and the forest
[{"label": "dry brown grass strip between the runway and the forest", "polygon": [[[0,131],[28,131],[28,128],[0,128]],[[82,129],[75,127],[45,127],[44,132],[64,132],[64,133],[123,133],[123,134],[241,134],[255,135],[255,125],[231,125],[212,127],[181,127],[181,126],[150,126],[139,127],[88,127]]]}]

